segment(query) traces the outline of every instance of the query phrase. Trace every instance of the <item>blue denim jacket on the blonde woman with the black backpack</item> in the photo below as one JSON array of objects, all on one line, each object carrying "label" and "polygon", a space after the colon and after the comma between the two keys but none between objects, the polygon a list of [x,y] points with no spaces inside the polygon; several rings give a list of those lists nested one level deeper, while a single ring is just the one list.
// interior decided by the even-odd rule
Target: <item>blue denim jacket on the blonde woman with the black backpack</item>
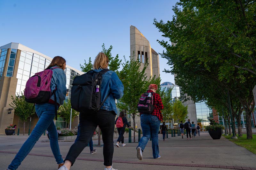
[{"label": "blue denim jacket on the blonde woman with the black backpack", "polygon": [[[101,70],[95,69],[94,71],[100,72]],[[108,93],[110,93],[109,96]],[[100,94],[101,102],[108,96],[100,109],[117,113],[115,99],[120,99],[124,95],[124,85],[114,71],[109,70],[102,75]]]}]

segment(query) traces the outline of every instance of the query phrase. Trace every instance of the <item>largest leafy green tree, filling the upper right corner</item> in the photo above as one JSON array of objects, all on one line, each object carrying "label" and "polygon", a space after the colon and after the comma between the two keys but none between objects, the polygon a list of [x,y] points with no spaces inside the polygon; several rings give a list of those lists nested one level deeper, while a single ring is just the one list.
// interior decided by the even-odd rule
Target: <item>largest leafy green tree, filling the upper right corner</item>
[{"label": "largest leafy green tree, filling the upper right corner", "polygon": [[[166,48],[162,56],[169,61],[169,65],[174,64],[172,71],[165,71],[181,72],[176,77],[177,81],[180,80],[177,84],[193,100],[207,100],[206,90],[199,92],[199,95],[191,94],[198,92],[196,88],[207,85],[204,89],[212,92],[210,81],[219,83],[224,94],[228,89],[230,96],[238,98],[246,112],[248,139],[252,138],[250,119],[255,105],[252,97],[256,82],[255,5],[246,0],[227,0],[225,3],[217,0],[181,0],[173,7],[175,16],[172,21],[164,23],[154,20],[163,36],[173,43],[159,41]],[[187,69],[183,71],[184,68]],[[204,75],[200,75],[202,73]],[[204,81],[206,83],[197,83]],[[191,86],[188,87],[190,90],[185,86]]]}]

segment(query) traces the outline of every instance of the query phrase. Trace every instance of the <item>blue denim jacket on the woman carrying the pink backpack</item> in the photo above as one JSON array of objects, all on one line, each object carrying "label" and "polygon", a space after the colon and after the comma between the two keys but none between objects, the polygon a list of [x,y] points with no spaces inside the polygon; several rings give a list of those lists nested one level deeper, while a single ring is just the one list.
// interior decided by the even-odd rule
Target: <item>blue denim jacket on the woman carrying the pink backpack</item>
[{"label": "blue denim jacket on the woman carrying the pink backpack", "polygon": [[[54,66],[54,67],[58,67],[58,66]],[[52,67],[51,67],[52,68]],[[55,68],[52,69],[52,80],[51,80],[51,90],[53,92],[53,90],[55,90],[55,88],[57,89],[55,94],[56,94],[56,98],[57,98],[57,103],[59,103],[60,105],[62,105],[65,100],[66,94],[67,94],[67,87],[66,87],[66,74],[65,71],[62,68]],[[51,99],[53,101],[54,100],[54,95],[52,95]]]}]

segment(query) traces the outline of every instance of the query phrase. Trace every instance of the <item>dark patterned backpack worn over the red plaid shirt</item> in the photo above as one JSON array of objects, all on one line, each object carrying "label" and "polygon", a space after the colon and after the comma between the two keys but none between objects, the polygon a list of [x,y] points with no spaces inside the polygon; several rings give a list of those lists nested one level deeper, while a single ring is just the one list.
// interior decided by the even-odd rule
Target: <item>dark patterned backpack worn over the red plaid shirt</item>
[{"label": "dark patterned backpack worn over the red plaid shirt", "polygon": [[153,103],[154,100],[152,93],[150,93],[150,97],[148,92],[143,93],[138,102],[138,111],[143,114],[151,114],[154,110]]}]

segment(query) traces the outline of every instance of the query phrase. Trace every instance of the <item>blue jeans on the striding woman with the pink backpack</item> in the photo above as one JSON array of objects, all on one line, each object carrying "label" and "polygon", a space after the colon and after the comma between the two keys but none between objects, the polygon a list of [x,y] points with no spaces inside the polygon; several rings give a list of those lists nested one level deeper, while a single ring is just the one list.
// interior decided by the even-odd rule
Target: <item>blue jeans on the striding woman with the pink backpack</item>
[{"label": "blue jeans on the striding woman with the pink backpack", "polygon": [[36,104],[36,114],[39,120],[28,139],[12,160],[12,163],[8,166],[10,170],[16,170],[18,166],[20,166],[21,162],[26,158],[45,130],[49,132],[50,146],[57,164],[63,163],[58,144],[58,134],[53,122],[55,117],[55,105],[49,103]]}]

